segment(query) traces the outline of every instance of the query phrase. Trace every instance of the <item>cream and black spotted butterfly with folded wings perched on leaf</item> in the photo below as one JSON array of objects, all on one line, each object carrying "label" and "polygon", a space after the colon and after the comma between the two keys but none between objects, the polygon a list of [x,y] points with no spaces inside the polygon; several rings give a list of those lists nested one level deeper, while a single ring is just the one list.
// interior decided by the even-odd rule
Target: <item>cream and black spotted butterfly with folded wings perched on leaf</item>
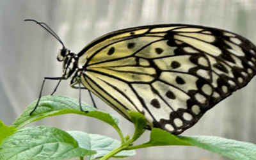
[{"label": "cream and black spotted butterfly with folded wings perched on leaf", "polygon": [[[61,42],[46,24],[35,22]],[[72,88],[83,84],[127,120],[127,110],[140,112],[147,129],[175,135],[256,73],[252,42],[230,31],[189,24],[114,31],[78,54],[63,45],[57,59],[63,61],[63,76],[56,79],[70,79]]]}]

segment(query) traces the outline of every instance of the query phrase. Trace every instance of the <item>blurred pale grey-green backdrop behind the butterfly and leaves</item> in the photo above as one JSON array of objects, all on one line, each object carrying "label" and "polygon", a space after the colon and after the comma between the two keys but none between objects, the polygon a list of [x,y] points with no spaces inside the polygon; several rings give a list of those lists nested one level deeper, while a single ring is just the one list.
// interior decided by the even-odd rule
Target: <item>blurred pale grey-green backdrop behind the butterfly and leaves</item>
[{"label": "blurred pale grey-green backdrop behind the butterfly and leaves", "polygon": [[[65,46],[79,52],[93,39],[115,31],[150,24],[197,24],[227,29],[256,44],[255,0],[20,0],[0,1],[0,118],[12,122],[38,98],[44,77],[60,77],[62,63],[56,60],[60,43],[34,22],[47,23]],[[46,81],[43,95],[54,90],[57,81]],[[78,99],[78,90],[62,81],[56,94]],[[256,143],[256,79],[208,111],[182,135],[221,136]],[[83,90],[82,100],[92,104]],[[97,107],[120,118],[124,134],[133,125],[95,96]],[[31,125],[51,125],[65,131],[103,134],[118,140],[108,124],[80,115],[44,118]],[[1,131],[0,131],[1,132]],[[149,131],[138,143],[149,139]],[[137,150],[125,159],[210,160],[228,159],[196,147],[152,147]]]}]

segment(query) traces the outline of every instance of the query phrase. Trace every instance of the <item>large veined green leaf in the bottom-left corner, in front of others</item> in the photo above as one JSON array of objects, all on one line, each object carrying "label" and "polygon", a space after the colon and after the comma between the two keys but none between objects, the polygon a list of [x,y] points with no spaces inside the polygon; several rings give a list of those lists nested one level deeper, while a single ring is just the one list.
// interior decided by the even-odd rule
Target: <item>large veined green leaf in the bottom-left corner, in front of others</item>
[{"label": "large veined green leaf in the bottom-left corner, in front of others", "polygon": [[16,131],[0,145],[0,159],[70,159],[96,154],[79,147],[65,131],[55,127],[28,127]]}]

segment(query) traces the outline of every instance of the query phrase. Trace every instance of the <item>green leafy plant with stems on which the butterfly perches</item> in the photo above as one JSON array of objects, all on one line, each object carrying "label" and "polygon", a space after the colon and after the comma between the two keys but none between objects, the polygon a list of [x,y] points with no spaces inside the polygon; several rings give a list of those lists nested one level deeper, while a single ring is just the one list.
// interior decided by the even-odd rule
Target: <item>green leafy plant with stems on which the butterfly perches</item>
[{"label": "green leafy plant with stems on which the butterfly perches", "polygon": [[[115,116],[99,111],[82,103],[84,113],[79,109],[76,99],[52,95],[42,97],[33,115],[29,113],[36,101],[24,110],[12,126],[6,126],[0,120],[0,159],[70,159],[87,157],[88,159],[110,157],[128,157],[136,154],[138,148],[161,145],[196,146],[232,159],[256,159],[256,145],[214,136],[173,136],[161,129],[152,129],[150,140],[141,145],[131,144],[145,131],[145,117],[140,113],[130,112],[135,131],[130,138],[118,127],[119,120]],[[106,136],[88,134],[80,131],[62,131],[56,127],[25,125],[47,116],[76,113],[98,118],[115,128],[121,141]]]}]

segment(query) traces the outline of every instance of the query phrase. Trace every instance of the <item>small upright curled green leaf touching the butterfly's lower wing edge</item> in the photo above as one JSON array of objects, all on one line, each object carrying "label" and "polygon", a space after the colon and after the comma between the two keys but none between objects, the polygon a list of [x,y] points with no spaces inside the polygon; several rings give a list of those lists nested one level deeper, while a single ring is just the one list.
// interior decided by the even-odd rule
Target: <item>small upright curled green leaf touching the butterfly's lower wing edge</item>
[{"label": "small upright curled green leaf touching the butterfly's lower wing edge", "polygon": [[131,121],[135,125],[134,135],[132,136],[133,140],[137,140],[141,134],[145,131],[147,126],[146,118],[144,115],[138,112],[128,111],[131,116]]}]

